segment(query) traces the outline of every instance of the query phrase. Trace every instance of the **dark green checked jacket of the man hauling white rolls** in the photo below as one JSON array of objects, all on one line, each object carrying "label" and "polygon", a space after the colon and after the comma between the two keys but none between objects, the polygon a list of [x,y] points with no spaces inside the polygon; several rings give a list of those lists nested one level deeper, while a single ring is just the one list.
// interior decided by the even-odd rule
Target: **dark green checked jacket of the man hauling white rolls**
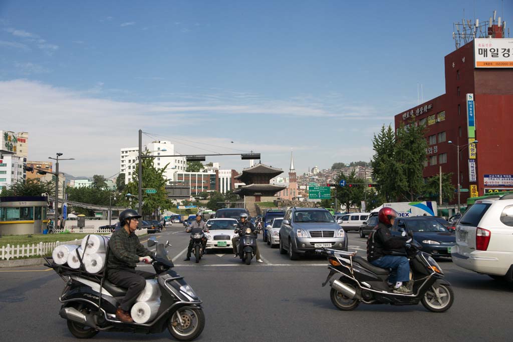
[{"label": "dark green checked jacket of the man hauling white rolls", "polygon": [[109,239],[108,269],[134,269],[140,256],[153,256],[155,253],[146,249],[139,242],[135,233],[127,233],[124,227],[112,233]]}]

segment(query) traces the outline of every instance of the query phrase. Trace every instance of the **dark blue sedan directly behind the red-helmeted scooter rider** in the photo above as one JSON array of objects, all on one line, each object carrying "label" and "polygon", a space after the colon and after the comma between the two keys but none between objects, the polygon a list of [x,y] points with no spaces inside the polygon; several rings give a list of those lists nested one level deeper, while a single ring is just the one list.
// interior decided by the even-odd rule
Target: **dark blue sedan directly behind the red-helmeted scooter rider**
[{"label": "dark blue sedan directly behind the red-helmeted scooter rider", "polygon": [[450,257],[450,249],[456,246],[456,235],[450,232],[437,217],[401,217],[392,226],[392,235],[401,236],[403,231],[412,231],[413,238],[422,245],[422,251],[433,256]]}]

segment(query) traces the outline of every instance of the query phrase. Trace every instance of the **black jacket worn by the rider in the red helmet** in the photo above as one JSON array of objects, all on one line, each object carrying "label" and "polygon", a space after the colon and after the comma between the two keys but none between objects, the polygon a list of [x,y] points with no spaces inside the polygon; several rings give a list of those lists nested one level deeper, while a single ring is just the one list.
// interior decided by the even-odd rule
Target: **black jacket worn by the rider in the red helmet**
[{"label": "black jacket worn by the rider in the red helmet", "polygon": [[405,244],[402,238],[392,236],[390,229],[380,222],[367,239],[367,260],[373,261],[392,254],[393,250],[403,249]]}]

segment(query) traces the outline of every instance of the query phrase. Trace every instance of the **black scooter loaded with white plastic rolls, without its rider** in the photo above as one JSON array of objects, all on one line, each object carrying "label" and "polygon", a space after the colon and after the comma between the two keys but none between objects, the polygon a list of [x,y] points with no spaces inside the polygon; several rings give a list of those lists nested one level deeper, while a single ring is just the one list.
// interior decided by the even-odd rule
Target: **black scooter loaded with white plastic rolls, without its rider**
[{"label": "black scooter loaded with white plastic rolls, without its rider", "polygon": [[105,270],[89,274],[81,269],[72,269],[53,263],[45,258],[45,266],[52,268],[66,283],[59,297],[63,303],[60,316],[67,320],[71,334],[77,338],[91,338],[100,331],[162,333],[166,328],[180,341],[190,341],[198,337],[205,327],[202,301],[184,277],[172,270],[172,260],[167,256],[166,247],[155,239],[148,240],[148,247],[157,245],[155,258],[151,264],[161,291],[161,304],[154,319],[144,324],[123,323],[116,318],[118,299],[127,289],[110,283]]}]

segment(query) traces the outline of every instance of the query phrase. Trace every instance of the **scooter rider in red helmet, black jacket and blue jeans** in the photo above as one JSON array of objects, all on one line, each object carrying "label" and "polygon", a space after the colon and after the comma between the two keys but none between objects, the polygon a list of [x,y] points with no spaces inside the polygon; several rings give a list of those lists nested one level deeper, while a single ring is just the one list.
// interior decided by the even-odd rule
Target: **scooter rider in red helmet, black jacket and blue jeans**
[{"label": "scooter rider in red helmet, black jacket and blue jeans", "polygon": [[393,286],[393,292],[411,294],[403,285],[410,280],[410,264],[405,256],[390,255],[393,250],[407,248],[409,244],[396,236],[392,236],[390,228],[398,217],[397,211],[389,207],[381,208],[378,213],[378,225],[372,230],[367,239],[367,260],[374,266],[392,269],[388,277],[388,285]]}]

